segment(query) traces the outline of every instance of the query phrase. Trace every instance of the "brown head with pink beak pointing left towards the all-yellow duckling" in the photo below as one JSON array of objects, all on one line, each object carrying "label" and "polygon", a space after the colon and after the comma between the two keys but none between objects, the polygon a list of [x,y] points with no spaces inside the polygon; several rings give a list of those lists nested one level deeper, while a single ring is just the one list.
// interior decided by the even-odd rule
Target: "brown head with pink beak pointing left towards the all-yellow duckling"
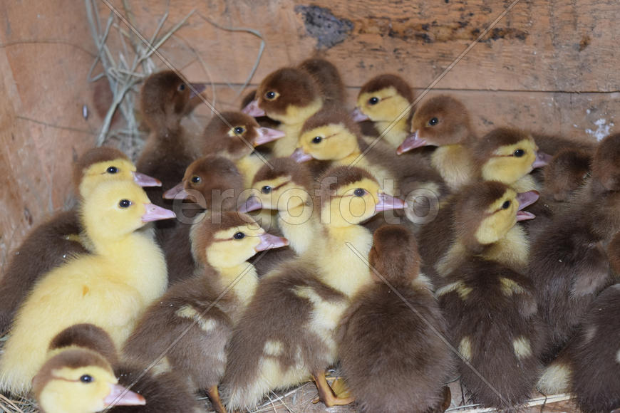
[{"label": "brown head with pink beak pointing left towards the all-yellow duckling", "polygon": [[185,169],[183,180],[168,189],[165,199],[189,199],[204,209],[229,211],[243,190],[243,177],[235,164],[221,156],[195,160]]}]

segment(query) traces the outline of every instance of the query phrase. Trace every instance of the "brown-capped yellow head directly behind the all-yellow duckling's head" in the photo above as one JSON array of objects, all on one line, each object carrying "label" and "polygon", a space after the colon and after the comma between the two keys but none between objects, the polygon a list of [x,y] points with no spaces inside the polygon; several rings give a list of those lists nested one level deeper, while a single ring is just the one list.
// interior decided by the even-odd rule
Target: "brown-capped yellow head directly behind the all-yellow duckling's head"
[{"label": "brown-capped yellow head directly behind the all-yellow duckling's head", "polygon": [[136,172],[127,155],[112,147],[88,150],[73,164],[73,182],[82,198],[88,197],[101,182],[131,181],[140,187],[161,187],[159,179]]}]

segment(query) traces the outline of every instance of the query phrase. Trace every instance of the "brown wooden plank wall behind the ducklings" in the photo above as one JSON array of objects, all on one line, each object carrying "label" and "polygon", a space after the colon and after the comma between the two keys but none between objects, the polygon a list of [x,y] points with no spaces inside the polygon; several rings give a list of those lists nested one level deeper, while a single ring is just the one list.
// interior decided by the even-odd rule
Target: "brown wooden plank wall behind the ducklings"
[{"label": "brown wooden plank wall behind the ducklings", "polygon": [[[214,83],[219,110],[238,107],[260,44],[250,33],[222,27],[262,33],[266,48],[252,85],[279,66],[320,53],[341,69],[353,103],[358,88],[378,73],[400,74],[424,90],[511,3],[109,2],[147,38],[166,12],[163,31],[194,10],[160,50],[190,80]],[[4,1],[0,10],[4,258],[31,225],[66,203],[73,153],[93,145],[101,119],[86,80],[95,46],[83,1]],[[99,10],[103,18],[110,13],[103,1]],[[514,125],[576,139],[602,137],[620,122],[619,41],[617,0],[520,0],[433,93],[465,100],[480,132]],[[210,90],[207,95],[213,98]],[[91,108],[88,120],[83,105]],[[206,122],[210,113],[199,108],[198,115]]]}]

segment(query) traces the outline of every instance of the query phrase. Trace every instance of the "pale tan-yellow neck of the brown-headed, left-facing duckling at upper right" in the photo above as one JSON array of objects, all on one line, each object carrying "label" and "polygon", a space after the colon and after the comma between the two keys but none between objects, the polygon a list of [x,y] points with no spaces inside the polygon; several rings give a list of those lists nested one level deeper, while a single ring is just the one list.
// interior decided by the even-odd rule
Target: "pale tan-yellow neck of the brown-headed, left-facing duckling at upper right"
[{"label": "pale tan-yellow neck of the brown-headed, left-facing duckling at upper right", "polygon": [[430,162],[452,191],[460,189],[475,177],[472,155],[463,144],[438,147]]}]

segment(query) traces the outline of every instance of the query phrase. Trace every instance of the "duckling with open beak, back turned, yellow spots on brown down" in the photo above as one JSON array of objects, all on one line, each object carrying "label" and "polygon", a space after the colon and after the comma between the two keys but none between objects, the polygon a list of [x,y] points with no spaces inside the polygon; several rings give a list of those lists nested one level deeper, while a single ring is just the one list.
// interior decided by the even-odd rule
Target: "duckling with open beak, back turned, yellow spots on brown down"
[{"label": "duckling with open beak, back turned, yellow spots on brown down", "polygon": [[525,270],[528,248],[515,224],[532,218],[505,184],[465,187],[454,212],[458,253],[435,292],[463,359],[461,382],[473,402],[502,411],[514,411],[529,398],[541,367],[544,337],[534,288],[513,269],[520,261]]}]

